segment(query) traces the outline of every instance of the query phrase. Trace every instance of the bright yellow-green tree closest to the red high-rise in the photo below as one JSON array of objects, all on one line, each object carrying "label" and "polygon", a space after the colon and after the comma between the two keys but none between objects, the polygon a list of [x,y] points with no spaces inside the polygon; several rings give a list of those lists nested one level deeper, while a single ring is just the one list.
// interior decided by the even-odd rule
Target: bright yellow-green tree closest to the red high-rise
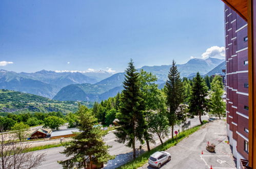
[{"label": "bright yellow-green tree closest to the red high-rise", "polygon": [[222,77],[215,76],[211,82],[212,93],[210,97],[210,113],[214,116],[221,117],[225,116],[226,103],[222,100],[223,85]]}]

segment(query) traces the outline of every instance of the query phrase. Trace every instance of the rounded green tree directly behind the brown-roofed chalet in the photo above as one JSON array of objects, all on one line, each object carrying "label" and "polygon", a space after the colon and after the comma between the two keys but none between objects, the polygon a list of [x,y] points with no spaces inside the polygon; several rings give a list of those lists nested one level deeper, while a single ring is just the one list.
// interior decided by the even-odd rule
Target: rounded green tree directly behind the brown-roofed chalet
[{"label": "rounded green tree directly behind the brown-roofed chalet", "polygon": [[60,126],[64,125],[65,122],[66,121],[60,117],[49,116],[49,117],[45,118],[43,128],[50,128],[52,131],[58,130],[58,128],[60,128]]}]

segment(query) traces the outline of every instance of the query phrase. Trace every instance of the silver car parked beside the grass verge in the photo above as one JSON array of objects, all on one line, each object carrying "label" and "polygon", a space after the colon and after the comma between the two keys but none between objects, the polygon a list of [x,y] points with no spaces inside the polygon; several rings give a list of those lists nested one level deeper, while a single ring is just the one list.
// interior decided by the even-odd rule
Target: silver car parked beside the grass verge
[{"label": "silver car parked beside the grass verge", "polygon": [[148,164],[153,167],[160,168],[166,161],[171,160],[170,153],[167,152],[155,152],[148,159]]}]

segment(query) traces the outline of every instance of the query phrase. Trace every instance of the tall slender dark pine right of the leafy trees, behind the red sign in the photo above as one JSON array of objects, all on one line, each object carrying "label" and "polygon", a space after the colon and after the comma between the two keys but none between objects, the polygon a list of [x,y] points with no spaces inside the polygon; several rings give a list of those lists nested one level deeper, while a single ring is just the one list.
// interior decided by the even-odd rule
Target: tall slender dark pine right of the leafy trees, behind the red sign
[{"label": "tall slender dark pine right of the leafy trees, behind the red sign", "polygon": [[[167,106],[169,112],[167,117],[169,124],[171,126],[171,135],[173,138],[173,126],[181,119],[178,117],[183,117],[183,115],[177,115],[177,110],[180,104],[184,102],[184,88],[183,83],[180,78],[180,72],[175,66],[175,61],[172,61],[172,67],[170,68],[168,79],[166,81],[166,96],[167,96]],[[184,112],[180,111],[180,114]]]}]

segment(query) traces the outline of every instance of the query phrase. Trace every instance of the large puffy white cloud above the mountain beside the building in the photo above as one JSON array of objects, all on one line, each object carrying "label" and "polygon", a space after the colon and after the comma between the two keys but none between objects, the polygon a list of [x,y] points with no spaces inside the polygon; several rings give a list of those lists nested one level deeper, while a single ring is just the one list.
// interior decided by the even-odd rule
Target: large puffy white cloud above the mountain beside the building
[{"label": "large puffy white cloud above the mountain beside the building", "polygon": [[204,59],[207,59],[208,57],[224,59],[225,47],[212,46],[208,48],[205,53],[202,54],[202,57]]}]

